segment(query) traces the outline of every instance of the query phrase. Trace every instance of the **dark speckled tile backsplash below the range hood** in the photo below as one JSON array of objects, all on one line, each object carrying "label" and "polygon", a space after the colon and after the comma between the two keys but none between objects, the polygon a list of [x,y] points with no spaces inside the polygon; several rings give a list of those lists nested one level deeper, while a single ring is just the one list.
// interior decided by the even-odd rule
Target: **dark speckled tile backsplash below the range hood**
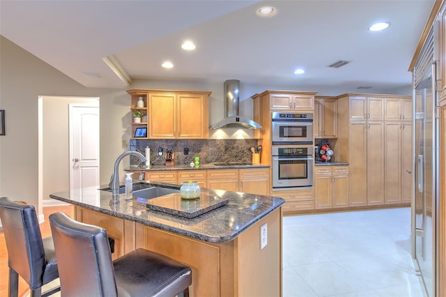
[{"label": "dark speckled tile backsplash below the range hood", "polygon": [[[257,139],[132,139],[130,151],[139,151],[143,155],[146,147],[151,148],[152,165],[164,165],[166,149],[174,153],[176,165],[189,164],[194,157],[200,157],[201,163],[212,162],[251,162],[251,147],[257,146]],[[163,155],[158,156],[158,148]],[[184,148],[189,154],[184,155]],[[139,159],[131,158],[131,165],[137,165]]]}]

